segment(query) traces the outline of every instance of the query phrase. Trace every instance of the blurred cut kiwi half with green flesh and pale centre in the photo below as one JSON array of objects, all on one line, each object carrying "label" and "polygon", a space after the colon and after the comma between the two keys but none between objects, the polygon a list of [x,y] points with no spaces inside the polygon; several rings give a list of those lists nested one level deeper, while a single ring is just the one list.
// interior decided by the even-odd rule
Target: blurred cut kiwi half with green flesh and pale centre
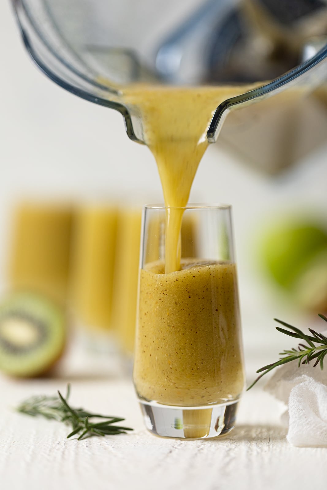
[{"label": "blurred cut kiwi half with green flesh and pale centre", "polygon": [[42,295],[17,292],[0,303],[0,370],[39,376],[61,356],[66,340],[63,311]]}]

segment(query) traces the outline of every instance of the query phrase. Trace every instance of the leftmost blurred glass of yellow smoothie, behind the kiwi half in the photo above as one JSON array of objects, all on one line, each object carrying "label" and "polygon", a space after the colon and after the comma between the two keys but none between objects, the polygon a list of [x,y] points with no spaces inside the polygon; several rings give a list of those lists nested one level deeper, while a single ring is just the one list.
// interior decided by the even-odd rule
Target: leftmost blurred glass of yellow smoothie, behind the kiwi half
[{"label": "leftmost blurred glass of yellow smoothie, behind the kiwi half", "polygon": [[11,217],[8,282],[66,303],[74,209],[62,202],[24,201]]}]

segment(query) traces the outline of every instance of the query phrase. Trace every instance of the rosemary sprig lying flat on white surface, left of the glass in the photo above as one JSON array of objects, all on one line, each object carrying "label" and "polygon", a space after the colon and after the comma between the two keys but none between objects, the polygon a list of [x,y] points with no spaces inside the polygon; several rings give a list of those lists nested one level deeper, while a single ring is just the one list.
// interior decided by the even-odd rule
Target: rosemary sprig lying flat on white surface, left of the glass
[{"label": "rosemary sprig lying flat on white surface, left of the glass", "polygon": [[[73,430],[68,434],[67,439],[79,434],[78,441],[91,436],[126,434],[126,431],[133,430],[130,427],[113,425],[122,422],[125,420],[124,418],[93,414],[82,408],[72,408],[68,403],[70,391],[71,386],[68,384],[65,398],[59,391],[58,396],[32,396],[22,402],[17,407],[17,411],[31,417],[42,416],[71,425]],[[90,418],[103,418],[105,420],[91,422]]]}]

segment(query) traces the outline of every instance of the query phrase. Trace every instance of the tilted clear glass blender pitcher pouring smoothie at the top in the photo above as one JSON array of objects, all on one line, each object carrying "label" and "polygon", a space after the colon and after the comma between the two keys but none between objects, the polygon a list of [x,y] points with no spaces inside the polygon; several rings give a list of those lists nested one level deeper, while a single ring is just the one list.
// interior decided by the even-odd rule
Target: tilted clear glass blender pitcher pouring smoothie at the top
[{"label": "tilted clear glass blender pitcher pouring smoothie at the top", "polygon": [[12,3],[37,66],[69,92],[121,112],[134,141],[146,143],[138,108],[122,101],[124,85],[257,82],[217,107],[209,143],[221,133],[222,144],[274,173],[326,142],[325,0]]}]

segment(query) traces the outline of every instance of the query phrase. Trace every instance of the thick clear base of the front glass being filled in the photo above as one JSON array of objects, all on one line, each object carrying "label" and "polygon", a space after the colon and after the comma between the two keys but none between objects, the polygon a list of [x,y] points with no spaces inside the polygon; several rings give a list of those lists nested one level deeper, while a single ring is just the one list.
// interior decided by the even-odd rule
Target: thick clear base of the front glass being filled
[{"label": "thick clear base of the front glass being filled", "polygon": [[139,400],[147,429],[161,437],[210,439],[235,425],[239,400],[202,407],[172,407]]}]

